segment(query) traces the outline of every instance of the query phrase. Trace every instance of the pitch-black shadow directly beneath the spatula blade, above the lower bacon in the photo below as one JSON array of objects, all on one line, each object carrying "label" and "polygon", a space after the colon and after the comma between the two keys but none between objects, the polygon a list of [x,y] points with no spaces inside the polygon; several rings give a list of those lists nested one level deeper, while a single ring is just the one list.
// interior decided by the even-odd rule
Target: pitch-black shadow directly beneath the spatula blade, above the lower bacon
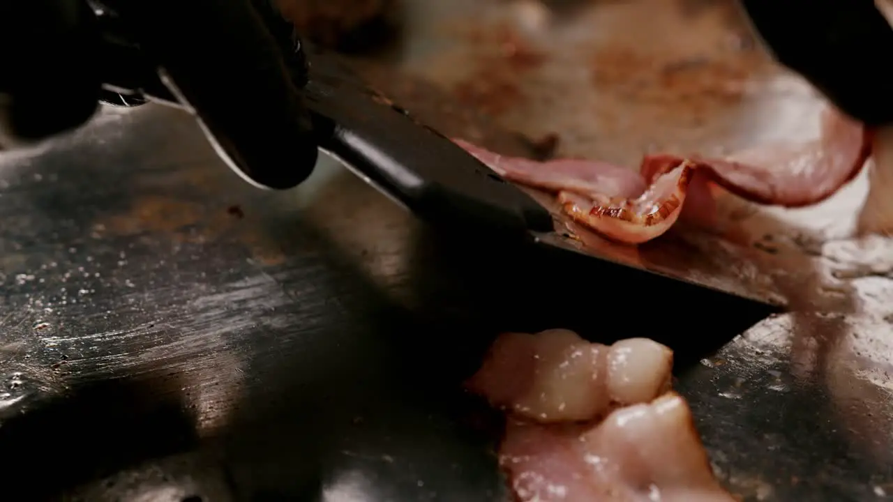
[{"label": "pitch-black shadow directly beneath the spatula blade, above the lower bacon", "polygon": [[[415,285],[430,298],[421,303],[432,309],[463,303],[452,305],[450,312],[467,317],[454,315],[450,321],[481,326],[491,337],[551,328],[575,330],[603,343],[646,337],[671,347],[682,369],[776,312],[745,298],[557,248],[429,233],[430,238],[419,240],[414,263],[418,269],[448,267],[450,272]],[[413,277],[425,275],[416,272]],[[463,297],[450,296],[451,289],[463,285]]]}]

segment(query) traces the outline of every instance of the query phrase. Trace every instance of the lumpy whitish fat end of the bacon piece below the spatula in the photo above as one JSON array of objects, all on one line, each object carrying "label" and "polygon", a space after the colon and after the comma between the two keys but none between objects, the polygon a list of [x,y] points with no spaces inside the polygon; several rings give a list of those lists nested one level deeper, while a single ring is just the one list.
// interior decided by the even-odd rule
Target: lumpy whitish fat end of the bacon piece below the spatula
[{"label": "lumpy whitish fat end of the bacon piece below the spatula", "polygon": [[660,396],[671,370],[672,351],[649,339],[605,346],[571,330],[504,333],[466,386],[540,423],[588,421]]}]

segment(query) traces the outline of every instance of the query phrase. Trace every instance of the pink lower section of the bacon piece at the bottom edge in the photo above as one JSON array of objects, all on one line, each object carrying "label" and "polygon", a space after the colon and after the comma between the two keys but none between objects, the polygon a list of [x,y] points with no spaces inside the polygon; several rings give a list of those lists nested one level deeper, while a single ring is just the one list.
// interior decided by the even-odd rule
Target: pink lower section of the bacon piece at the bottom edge
[{"label": "pink lower section of the bacon piece at the bottom edge", "polygon": [[675,394],[605,422],[510,419],[499,461],[518,502],[731,502],[714,479],[689,406]]}]

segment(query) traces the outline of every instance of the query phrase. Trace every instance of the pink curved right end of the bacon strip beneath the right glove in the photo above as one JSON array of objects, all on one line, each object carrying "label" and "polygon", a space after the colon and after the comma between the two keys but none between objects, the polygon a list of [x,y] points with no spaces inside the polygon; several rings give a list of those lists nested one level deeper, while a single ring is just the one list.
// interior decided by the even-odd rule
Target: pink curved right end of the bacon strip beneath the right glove
[{"label": "pink curved right end of the bacon strip beneath the right glove", "polygon": [[[822,113],[819,138],[798,145],[759,146],[722,159],[688,157],[710,180],[747,200],[801,207],[834,195],[858,174],[872,153],[872,135],[843,114]],[[640,166],[646,181],[670,172],[677,155],[647,155]]]}]

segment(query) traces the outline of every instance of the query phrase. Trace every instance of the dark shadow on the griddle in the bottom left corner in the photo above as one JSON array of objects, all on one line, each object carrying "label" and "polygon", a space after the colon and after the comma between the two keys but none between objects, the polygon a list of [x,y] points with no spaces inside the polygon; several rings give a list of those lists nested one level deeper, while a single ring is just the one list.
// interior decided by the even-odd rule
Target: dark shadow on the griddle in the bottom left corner
[{"label": "dark shadow on the griddle in the bottom left corner", "polygon": [[194,448],[195,417],[170,388],[171,381],[98,381],[4,421],[3,498],[55,500],[62,489]]}]

